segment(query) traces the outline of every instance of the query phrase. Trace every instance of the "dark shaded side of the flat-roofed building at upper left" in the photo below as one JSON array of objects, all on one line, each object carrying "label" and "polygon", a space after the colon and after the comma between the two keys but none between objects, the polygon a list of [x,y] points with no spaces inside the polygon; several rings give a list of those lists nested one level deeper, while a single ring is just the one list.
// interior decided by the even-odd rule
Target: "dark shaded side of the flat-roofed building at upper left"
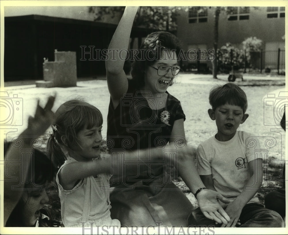
[{"label": "dark shaded side of the flat-roofed building at upper left", "polygon": [[[77,77],[104,75],[105,56],[117,25],[41,15],[4,18],[4,80],[42,79],[43,58],[54,61],[54,50],[75,51]],[[131,37],[153,30],[132,28]],[[93,48],[90,49],[89,46]],[[96,51],[97,49],[97,51]],[[92,54],[89,51],[92,50]],[[84,54],[84,52],[88,52]]]}]

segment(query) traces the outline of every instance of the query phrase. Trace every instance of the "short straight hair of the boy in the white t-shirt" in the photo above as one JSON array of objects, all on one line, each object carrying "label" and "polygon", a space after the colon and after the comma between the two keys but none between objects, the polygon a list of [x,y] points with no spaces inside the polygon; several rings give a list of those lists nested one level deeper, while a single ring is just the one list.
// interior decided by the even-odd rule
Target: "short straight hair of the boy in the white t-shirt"
[{"label": "short straight hair of the boy in the white t-shirt", "polygon": [[248,106],[245,92],[232,82],[213,87],[209,94],[209,103],[214,111],[217,107],[226,103],[240,106],[243,114],[246,112]]}]

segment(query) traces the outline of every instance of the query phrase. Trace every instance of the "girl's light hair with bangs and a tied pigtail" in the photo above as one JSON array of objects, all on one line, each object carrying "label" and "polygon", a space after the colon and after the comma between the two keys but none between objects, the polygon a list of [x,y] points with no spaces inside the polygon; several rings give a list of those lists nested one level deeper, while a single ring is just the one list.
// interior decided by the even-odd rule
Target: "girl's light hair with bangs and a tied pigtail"
[{"label": "girl's light hair with bangs and a tied pigtail", "polygon": [[[77,133],[84,127],[91,129],[103,124],[101,112],[85,101],[74,99],[62,104],[55,113],[56,120],[52,124],[53,133],[47,144],[47,153],[54,165],[59,168],[66,160],[63,147],[72,150],[79,148]],[[67,142],[63,143],[62,136]]]}]

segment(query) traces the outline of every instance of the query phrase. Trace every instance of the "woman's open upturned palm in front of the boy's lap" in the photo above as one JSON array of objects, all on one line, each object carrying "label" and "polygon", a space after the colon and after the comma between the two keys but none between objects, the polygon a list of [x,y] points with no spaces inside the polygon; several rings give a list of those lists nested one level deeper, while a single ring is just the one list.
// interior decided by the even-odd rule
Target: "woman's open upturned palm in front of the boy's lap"
[{"label": "woman's open upturned palm in front of the boy's lap", "polygon": [[204,189],[197,194],[199,207],[206,218],[215,220],[217,223],[228,224],[229,215],[221,207],[218,200],[229,203],[230,201],[220,193],[210,189]]}]

